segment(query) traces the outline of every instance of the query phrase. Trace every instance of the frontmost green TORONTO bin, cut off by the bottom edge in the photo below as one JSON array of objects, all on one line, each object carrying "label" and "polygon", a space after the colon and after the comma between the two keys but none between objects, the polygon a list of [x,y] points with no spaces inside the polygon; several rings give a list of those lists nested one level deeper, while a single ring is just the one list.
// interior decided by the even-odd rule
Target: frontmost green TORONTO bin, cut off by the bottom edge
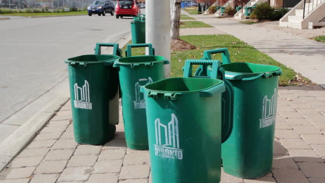
[{"label": "frontmost green TORONTO bin, cut off by the bottom edge", "polygon": [[[189,68],[185,65],[185,70]],[[219,183],[224,82],[216,75],[176,77],[141,90],[146,96],[153,183]]]}]

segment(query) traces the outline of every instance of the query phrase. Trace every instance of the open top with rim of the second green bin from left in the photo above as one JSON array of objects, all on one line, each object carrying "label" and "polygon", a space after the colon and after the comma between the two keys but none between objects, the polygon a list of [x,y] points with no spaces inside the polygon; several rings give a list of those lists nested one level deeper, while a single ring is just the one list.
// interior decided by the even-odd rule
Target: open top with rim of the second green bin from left
[{"label": "open top with rim of the second green bin from left", "polygon": [[153,64],[164,62],[164,64],[168,64],[169,61],[166,60],[165,57],[159,55],[140,55],[140,56],[130,56],[130,57],[122,57],[119,58],[114,63],[114,67],[118,67],[118,65],[140,65],[140,64]]}]

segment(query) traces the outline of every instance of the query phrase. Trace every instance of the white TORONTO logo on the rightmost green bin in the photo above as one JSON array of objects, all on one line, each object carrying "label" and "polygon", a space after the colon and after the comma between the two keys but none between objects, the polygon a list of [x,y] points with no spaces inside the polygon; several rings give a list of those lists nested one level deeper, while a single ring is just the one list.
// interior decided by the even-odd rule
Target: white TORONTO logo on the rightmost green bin
[{"label": "white TORONTO logo on the rightmost green bin", "polygon": [[276,102],[277,91],[275,88],[274,93],[270,99],[268,99],[268,95],[265,95],[263,98],[263,111],[262,119],[260,119],[260,128],[266,128],[275,124]]}]

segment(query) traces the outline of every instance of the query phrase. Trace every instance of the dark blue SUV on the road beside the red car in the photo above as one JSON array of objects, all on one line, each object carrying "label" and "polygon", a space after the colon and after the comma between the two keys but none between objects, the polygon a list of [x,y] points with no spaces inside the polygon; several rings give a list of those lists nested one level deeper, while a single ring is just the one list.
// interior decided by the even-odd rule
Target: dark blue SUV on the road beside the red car
[{"label": "dark blue SUV on the road beside the red car", "polygon": [[93,4],[87,7],[88,15],[97,14],[98,16],[105,16],[106,13],[110,13],[113,16],[115,12],[114,7],[112,0],[95,0]]}]

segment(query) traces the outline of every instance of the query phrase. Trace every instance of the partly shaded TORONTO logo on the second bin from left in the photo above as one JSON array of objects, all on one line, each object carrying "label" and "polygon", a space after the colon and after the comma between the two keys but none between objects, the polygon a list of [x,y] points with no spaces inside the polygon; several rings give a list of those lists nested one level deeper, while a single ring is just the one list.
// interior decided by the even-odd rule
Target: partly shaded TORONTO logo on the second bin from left
[{"label": "partly shaded TORONTO logo on the second bin from left", "polygon": [[146,86],[153,82],[151,77],[139,79],[138,82],[134,85],[135,90],[135,101],[134,102],[134,109],[146,109],[146,102],[145,102],[145,94],[140,92],[140,88],[142,86]]}]

